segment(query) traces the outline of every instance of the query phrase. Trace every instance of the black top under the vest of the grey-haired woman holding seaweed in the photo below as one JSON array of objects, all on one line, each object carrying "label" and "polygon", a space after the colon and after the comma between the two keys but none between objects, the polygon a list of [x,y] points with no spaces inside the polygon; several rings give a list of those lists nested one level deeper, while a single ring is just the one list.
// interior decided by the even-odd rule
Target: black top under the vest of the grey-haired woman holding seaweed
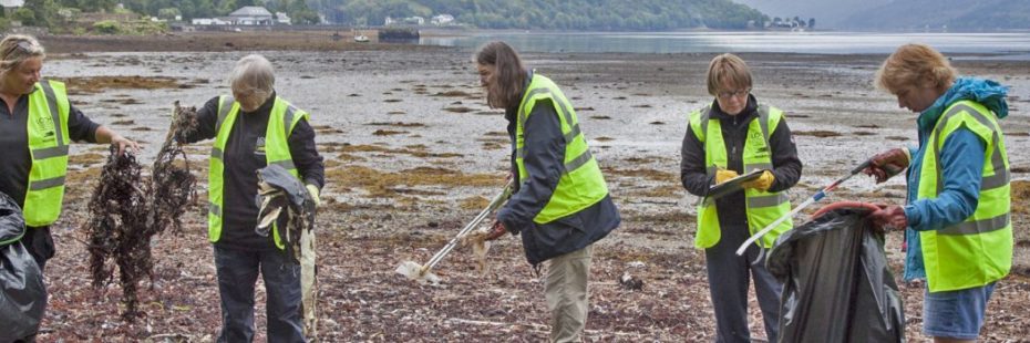
[{"label": "black top under the vest of the grey-haired woman holding seaweed", "polygon": [[[223,158],[223,221],[222,238],[216,245],[245,250],[275,249],[271,237],[261,237],[254,232],[257,227],[258,205],[257,170],[266,166],[264,149],[257,153],[257,142],[265,141],[268,117],[275,105],[276,94],[254,112],[244,112],[236,116],[229,137],[225,144]],[[198,127],[193,135],[182,137],[185,143],[210,139],[217,136],[215,124],[218,122],[218,96],[207,101],[197,112]],[[293,165],[305,184],[319,189],[326,183],[326,167],[322,156],[315,147],[315,129],[308,121],[300,121],[287,138]]]}]

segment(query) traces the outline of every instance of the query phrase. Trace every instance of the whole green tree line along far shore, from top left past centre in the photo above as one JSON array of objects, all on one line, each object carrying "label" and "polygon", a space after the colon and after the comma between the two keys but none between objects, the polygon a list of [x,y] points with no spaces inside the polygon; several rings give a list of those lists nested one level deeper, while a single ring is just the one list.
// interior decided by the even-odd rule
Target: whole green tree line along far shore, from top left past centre
[{"label": "whole green tree line along far shore, from top left past centre", "polygon": [[295,23],[330,22],[381,25],[387,17],[425,19],[447,13],[465,24],[487,29],[677,30],[761,27],[769,17],[730,0],[27,0],[19,20],[51,27],[58,12],[126,10],[184,20],[226,15],[245,6],[286,12]]}]

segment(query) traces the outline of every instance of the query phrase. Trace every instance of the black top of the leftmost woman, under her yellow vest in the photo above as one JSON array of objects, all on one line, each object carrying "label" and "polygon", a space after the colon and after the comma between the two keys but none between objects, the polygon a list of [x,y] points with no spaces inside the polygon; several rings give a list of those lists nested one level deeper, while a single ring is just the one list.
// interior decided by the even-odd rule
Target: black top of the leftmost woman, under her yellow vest
[{"label": "black top of the leftmost woman, under her yellow vest", "polygon": [[[33,90],[32,92],[38,92]],[[30,93],[31,94],[31,93]],[[96,143],[96,128],[79,108],[69,104],[68,135],[75,142]],[[0,191],[9,195],[18,206],[25,206],[25,193],[29,187],[29,170],[32,168],[32,155],[29,154],[29,94],[18,97],[14,113],[0,100]]]}]

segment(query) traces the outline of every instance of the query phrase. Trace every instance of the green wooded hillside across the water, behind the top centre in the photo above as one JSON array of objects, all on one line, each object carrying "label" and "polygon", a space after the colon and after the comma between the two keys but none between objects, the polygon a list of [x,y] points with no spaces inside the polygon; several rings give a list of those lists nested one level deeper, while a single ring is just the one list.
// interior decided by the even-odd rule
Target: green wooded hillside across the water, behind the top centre
[{"label": "green wooded hillside across the water, behind the top centre", "polygon": [[745,29],[768,17],[730,0],[309,0],[329,21],[381,25],[387,17],[451,14],[490,29]]}]

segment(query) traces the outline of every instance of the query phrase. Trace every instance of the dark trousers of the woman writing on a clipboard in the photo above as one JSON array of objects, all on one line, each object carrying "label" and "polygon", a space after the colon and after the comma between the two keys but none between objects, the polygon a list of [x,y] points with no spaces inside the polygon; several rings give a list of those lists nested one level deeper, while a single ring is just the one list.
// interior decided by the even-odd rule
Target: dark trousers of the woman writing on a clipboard
[{"label": "dark trousers of the woman writing on a clipboard", "polygon": [[[715,310],[717,342],[751,342],[748,329],[748,288],[754,278],[759,308],[765,323],[765,336],[776,342],[780,333],[780,293],[783,284],[765,269],[765,260],[752,264],[760,249],[748,248],[744,256],[737,256],[737,248],[748,239],[746,228],[723,228],[722,237],[714,247],[704,249],[708,264],[708,287]],[[750,273],[750,276],[749,276]]]}]

